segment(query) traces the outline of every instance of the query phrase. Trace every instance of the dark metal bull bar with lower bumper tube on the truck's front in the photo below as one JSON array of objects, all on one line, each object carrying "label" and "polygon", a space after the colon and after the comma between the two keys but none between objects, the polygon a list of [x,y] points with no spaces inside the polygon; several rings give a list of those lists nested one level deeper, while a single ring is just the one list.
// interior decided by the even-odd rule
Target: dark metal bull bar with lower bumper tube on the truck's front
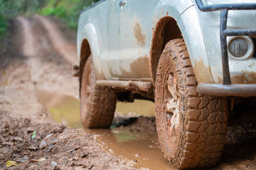
[{"label": "dark metal bull bar with lower bumper tube on the truck's front", "polygon": [[228,65],[227,36],[256,35],[256,29],[227,30],[228,10],[256,10],[256,3],[204,5],[202,0],[195,0],[202,12],[220,10],[220,47],[223,70],[223,84],[199,84],[197,91],[205,95],[219,96],[256,96],[256,85],[231,84]]}]

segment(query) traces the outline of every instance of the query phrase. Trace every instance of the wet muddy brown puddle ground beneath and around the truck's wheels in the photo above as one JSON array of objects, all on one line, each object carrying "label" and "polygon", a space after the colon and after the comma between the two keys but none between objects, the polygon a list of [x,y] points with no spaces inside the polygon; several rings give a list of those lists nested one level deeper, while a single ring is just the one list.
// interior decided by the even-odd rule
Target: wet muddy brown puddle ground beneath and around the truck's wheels
[{"label": "wet muddy brown puddle ground beneath and around the truck's wheels", "polygon": [[[47,94],[47,92],[44,92],[44,94]],[[72,97],[56,96],[58,95],[52,96],[52,103],[47,104],[45,103],[47,100],[42,101],[50,111],[51,107],[62,110],[61,107],[64,107],[67,102],[71,101],[72,103]],[[40,98],[45,100],[42,97]],[[57,102],[58,100],[59,102]],[[78,100],[77,103],[79,103]],[[146,106],[151,106],[150,109],[154,108],[154,104],[152,104],[153,102],[143,100],[136,100],[134,103],[118,102],[118,111],[115,112],[110,129],[84,129],[81,128],[82,125],[79,126],[74,123],[80,121],[79,116],[75,116],[76,120],[66,117],[67,115],[79,115],[79,111],[76,113],[68,111],[65,113],[51,112],[51,115],[57,122],[72,125],[73,128],[78,128],[79,132],[92,134],[92,138],[102,144],[110,153],[134,160],[137,168],[172,169],[167,165],[161,153],[154,112],[147,111]],[[229,125],[223,155],[218,165],[212,170],[253,170],[256,166],[255,136],[256,124],[254,123],[243,121],[239,125],[237,123],[236,125]]]}]

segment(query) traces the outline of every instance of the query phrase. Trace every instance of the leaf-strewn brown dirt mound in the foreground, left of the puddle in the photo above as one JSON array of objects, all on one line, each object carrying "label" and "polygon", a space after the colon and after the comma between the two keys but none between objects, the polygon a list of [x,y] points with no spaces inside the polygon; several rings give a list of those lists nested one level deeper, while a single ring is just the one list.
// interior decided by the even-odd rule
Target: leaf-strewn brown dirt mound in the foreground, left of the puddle
[{"label": "leaf-strewn brown dirt mound in the foreground, left of the puddle", "polygon": [[[0,168],[13,160],[18,169],[136,169],[133,162],[108,153],[90,134],[36,117],[13,118],[6,111],[0,115]],[[36,158],[46,160],[38,163]]]}]

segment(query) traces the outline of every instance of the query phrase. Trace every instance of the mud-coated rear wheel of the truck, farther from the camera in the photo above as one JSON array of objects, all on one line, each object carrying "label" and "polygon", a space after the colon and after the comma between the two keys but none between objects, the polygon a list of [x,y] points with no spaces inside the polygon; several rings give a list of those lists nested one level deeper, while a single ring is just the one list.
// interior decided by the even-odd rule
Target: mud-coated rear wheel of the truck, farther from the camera
[{"label": "mud-coated rear wheel of the truck, farther from the camera", "polygon": [[80,117],[85,128],[108,128],[113,120],[116,94],[109,87],[96,85],[92,57],[84,67],[80,90]]}]

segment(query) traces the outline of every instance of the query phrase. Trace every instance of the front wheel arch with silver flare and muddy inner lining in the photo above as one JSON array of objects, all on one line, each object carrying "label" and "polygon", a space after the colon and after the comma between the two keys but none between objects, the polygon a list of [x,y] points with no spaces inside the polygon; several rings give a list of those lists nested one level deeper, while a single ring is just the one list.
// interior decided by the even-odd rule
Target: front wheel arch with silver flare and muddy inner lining
[{"label": "front wheel arch with silver flare and muddy inner lining", "polygon": [[184,38],[187,45],[197,82],[214,83],[202,36],[200,17],[194,3],[191,1],[184,3],[182,4],[180,1],[166,5],[159,3],[155,9],[152,18],[151,28],[153,31],[149,51],[151,80],[154,84],[158,60],[163,48],[169,40],[180,37]]}]

